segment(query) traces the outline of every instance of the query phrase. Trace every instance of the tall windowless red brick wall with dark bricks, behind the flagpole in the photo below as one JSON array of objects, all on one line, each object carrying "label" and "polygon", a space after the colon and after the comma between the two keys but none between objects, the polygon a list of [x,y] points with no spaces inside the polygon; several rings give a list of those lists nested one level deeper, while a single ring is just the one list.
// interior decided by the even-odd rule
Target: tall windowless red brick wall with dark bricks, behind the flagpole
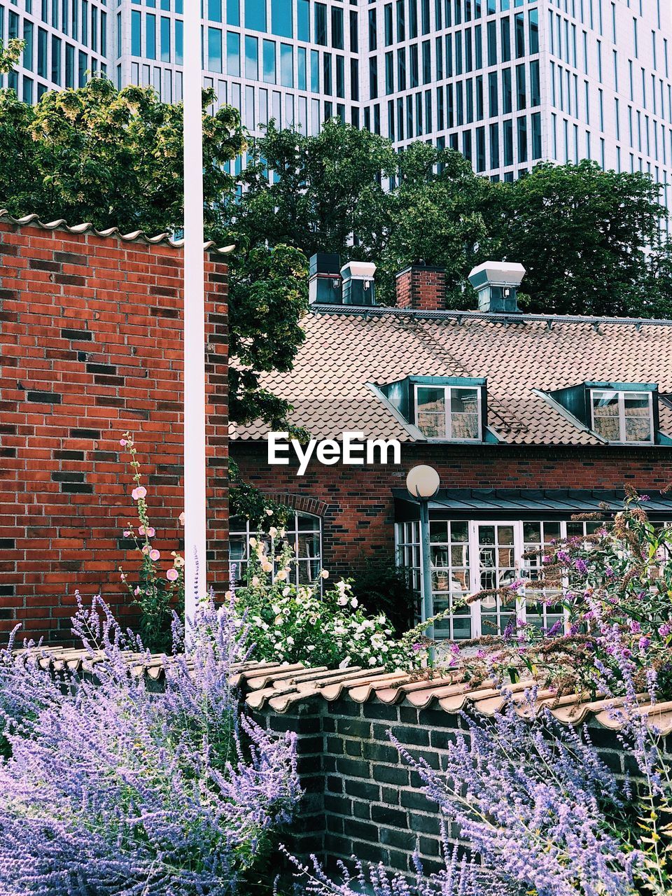
[{"label": "tall windowless red brick wall with dark bricks, behind the flagpole", "polygon": [[[130,430],[156,547],[181,547],[182,252],[0,223],[0,628],[66,641],[74,590],[126,619]],[[206,260],[211,581],[227,574],[227,268]]]}]

